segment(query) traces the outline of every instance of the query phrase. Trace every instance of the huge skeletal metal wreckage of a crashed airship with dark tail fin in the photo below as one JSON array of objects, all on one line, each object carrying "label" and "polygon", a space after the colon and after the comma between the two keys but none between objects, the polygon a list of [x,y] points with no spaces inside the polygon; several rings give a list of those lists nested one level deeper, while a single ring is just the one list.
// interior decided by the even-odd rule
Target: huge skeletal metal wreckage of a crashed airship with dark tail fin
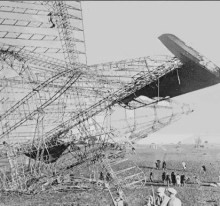
[{"label": "huge skeletal metal wreckage of a crashed airship with dark tail fin", "polygon": [[192,112],[173,97],[220,82],[219,67],[172,34],[159,40],[175,57],[88,65],[79,1],[1,1],[0,28],[4,190],[101,171],[109,189],[144,185],[135,142]]}]

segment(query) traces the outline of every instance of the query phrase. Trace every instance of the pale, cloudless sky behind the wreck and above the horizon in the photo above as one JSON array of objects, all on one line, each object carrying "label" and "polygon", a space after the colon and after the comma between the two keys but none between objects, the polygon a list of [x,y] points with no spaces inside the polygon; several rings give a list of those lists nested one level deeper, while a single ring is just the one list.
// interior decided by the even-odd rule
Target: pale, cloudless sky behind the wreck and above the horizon
[{"label": "pale, cloudless sky behind the wreck and above the horizon", "polygon": [[[171,33],[220,66],[218,1],[82,2],[88,64],[149,55],[172,55],[158,37]],[[220,143],[220,84],[175,98],[193,113],[149,135],[141,143]]]}]

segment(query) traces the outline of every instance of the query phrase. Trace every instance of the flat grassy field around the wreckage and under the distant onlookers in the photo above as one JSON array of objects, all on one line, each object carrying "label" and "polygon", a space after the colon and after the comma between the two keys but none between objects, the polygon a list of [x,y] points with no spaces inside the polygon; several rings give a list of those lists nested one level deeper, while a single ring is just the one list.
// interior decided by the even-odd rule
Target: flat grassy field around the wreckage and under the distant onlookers
[{"label": "flat grassy field around the wreckage and under the distant onlookers", "polygon": [[[147,176],[147,183],[142,188],[125,188],[123,191],[127,197],[129,206],[143,206],[144,199],[152,194],[159,186],[164,186],[161,181],[162,170],[155,169],[157,159],[166,160],[167,172],[176,171],[185,173],[190,177],[189,183],[184,187],[175,187],[177,197],[183,206],[217,206],[220,205],[220,187],[212,187],[210,183],[218,182],[220,175],[220,146],[209,145],[206,148],[195,149],[193,145],[182,145],[179,149],[176,145],[164,145],[157,150],[149,146],[136,146],[136,154],[132,156],[134,162],[142,168]],[[187,170],[182,170],[181,162],[185,161]],[[207,168],[206,174],[201,172],[201,166]],[[149,182],[150,171],[154,173],[154,182]],[[198,176],[201,185],[196,184],[194,176]],[[85,191],[45,191],[37,195],[2,194],[1,201],[5,205],[19,206],[108,206],[111,197],[107,190],[97,190],[96,187]]]}]

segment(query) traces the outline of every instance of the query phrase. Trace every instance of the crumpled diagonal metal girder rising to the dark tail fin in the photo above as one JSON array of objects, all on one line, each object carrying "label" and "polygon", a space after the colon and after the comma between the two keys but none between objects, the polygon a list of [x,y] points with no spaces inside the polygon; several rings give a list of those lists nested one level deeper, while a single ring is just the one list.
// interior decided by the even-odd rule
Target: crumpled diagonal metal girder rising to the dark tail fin
[{"label": "crumpled diagonal metal girder rising to the dark tail fin", "polygon": [[135,93],[137,90],[140,90],[146,85],[149,85],[153,81],[157,80],[159,77],[173,71],[176,68],[179,68],[181,65],[181,62],[174,58],[169,63],[157,67],[157,70],[153,71],[150,74],[149,72],[141,72],[140,74],[136,75],[133,82],[126,84],[125,87],[117,90],[116,92],[113,92],[108,97],[100,100],[99,102],[95,103],[94,105],[85,109],[84,111],[79,112],[76,115],[73,115],[72,118],[65,121],[63,124],[57,126],[50,132],[46,133],[45,137],[52,138],[53,135],[55,135],[57,132],[60,132],[62,130],[71,130],[73,127],[88,120],[96,114],[108,108],[111,108],[113,105],[117,103],[120,103],[124,98],[126,98],[130,94]]}]

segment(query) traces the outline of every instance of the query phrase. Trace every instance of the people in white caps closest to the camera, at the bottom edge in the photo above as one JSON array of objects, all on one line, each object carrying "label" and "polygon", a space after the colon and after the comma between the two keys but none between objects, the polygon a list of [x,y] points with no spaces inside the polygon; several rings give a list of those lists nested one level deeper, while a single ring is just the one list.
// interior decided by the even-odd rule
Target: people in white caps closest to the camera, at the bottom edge
[{"label": "people in white caps closest to the camera, at the bottom edge", "polygon": [[177,191],[174,188],[159,187],[156,191],[156,198],[148,196],[144,206],[181,206],[181,200],[176,197],[176,194]]}]

